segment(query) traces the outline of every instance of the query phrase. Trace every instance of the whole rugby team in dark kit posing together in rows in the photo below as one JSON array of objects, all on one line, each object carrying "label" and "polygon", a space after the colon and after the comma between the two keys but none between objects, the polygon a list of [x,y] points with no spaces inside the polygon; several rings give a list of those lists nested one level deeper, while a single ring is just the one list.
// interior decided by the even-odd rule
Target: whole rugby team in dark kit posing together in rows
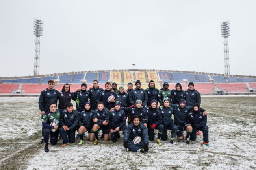
[{"label": "whole rugby team in dark kit posing together in rows", "polygon": [[[178,142],[189,144],[202,131],[203,144],[209,146],[207,112],[200,108],[201,96],[193,82],[188,84],[186,91],[180,83],[170,90],[167,82],[158,90],[153,80],[146,90],[141,88],[139,80],[135,82],[135,88],[129,82],[127,90],[124,86],[117,88],[115,82],[106,82],[103,90],[94,80],[89,90],[87,84],[82,83],[75,92],[70,92],[68,83],[59,92],[54,89],[54,83],[54,80],[48,81],[48,88],[41,91],[38,102],[42,116],[39,144],[45,144],[45,152],[49,152],[49,139],[52,145],[62,139],[61,147],[64,147],[80,138],[78,145],[81,145],[85,132],[88,132],[89,141],[97,145],[100,130],[100,138],[108,141],[110,134],[112,142],[120,138],[121,131],[124,148],[133,152],[148,152],[148,141],[154,140],[155,133],[158,133],[156,143],[161,145],[160,139],[168,139],[168,130],[171,130],[171,144],[176,137]],[[76,108],[71,100],[76,101]]]}]

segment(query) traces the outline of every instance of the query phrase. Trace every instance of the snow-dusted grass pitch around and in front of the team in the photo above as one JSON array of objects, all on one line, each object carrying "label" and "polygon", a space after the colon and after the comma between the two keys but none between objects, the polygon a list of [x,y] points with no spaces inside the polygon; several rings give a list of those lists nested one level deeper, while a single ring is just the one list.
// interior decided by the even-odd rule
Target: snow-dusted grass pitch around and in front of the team
[{"label": "snow-dusted grass pitch around and in front of the team", "polygon": [[[74,104],[74,102],[73,102]],[[126,152],[117,143],[80,139],[61,148],[59,141],[44,152],[38,98],[0,98],[0,169],[28,170],[165,170],[165,169],[256,169],[256,97],[202,97],[208,112],[209,144],[202,136],[192,144],[150,141],[146,154]],[[101,135],[101,133],[99,134]],[[168,134],[168,138],[170,135]],[[156,137],[155,137],[156,138]]]}]

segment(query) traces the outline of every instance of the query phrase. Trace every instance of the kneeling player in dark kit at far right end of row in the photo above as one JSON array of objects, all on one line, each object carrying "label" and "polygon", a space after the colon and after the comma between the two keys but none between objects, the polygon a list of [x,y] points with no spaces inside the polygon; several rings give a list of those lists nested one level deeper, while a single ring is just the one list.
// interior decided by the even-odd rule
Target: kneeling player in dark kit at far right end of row
[{"label": "kneeling player in dark kit at far right end of row", "polygon": [[197,139],[197,130],[202,130],[204,136],[204,143],[206,146],[209,146],[208,142],[208,126],[207,123],[207,115],[203,115],[203,112],[199,110],[199,104],[195,103],[193,105],[193,111],[189,112],[187,115],[187,123],[191,124],[193,130],[187,132],[186,143],[189,143],[189,135],[191,141],[195,141]]}]

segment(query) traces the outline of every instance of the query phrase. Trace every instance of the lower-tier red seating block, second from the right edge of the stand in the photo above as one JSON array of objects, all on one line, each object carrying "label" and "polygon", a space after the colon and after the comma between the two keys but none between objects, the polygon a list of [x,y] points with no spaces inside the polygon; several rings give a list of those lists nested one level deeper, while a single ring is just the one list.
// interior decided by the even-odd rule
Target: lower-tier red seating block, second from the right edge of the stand
[{"label": "lower-tier red seating block, second from the right edge of the stand", "polygon": [[219,83],[215,84],[219,89],[225,89],[228,92],[247,92],[245,83]]}]

